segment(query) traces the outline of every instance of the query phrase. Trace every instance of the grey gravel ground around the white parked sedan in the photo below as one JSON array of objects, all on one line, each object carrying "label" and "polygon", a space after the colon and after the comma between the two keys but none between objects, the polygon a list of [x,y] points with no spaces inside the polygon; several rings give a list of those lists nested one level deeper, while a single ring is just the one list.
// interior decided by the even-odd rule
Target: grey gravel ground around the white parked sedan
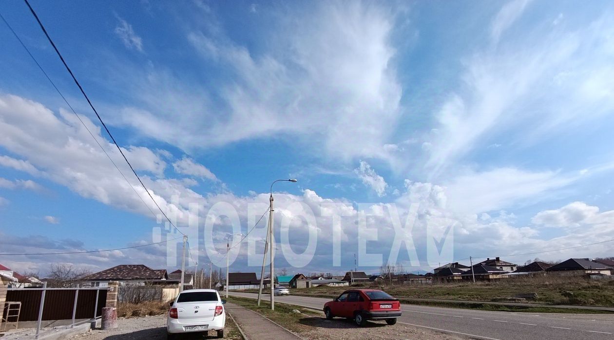
[{"label": "grey gravel ground around the white parked sedan", "polygon": [[[119,327],[114,330],[90,330],[73,336],[71,339],[84,340],[129,340],[129,339],[166,339],[166,314],[146,317],[120,318]],[[224,339],[242,339],[230,317],[226,318]],[[182,339],[216,339],[216,332],[209,336],[185,336]]]}]

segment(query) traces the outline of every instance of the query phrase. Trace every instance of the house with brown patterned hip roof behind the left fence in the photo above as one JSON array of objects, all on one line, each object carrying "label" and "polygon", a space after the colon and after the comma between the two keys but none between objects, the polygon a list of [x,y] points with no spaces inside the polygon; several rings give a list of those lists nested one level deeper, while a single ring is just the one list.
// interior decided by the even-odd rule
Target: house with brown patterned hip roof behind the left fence
[{"label": "house with brown patterned hip roof behind the left fence", "polygon": [[93,273],[82,279],[82,284],[91,287],[107,287],[109,281],[119,281],[122,285],[174,284],[179,281],[168,279],[165,269],[152,269],[146,265],[119,265]]}]

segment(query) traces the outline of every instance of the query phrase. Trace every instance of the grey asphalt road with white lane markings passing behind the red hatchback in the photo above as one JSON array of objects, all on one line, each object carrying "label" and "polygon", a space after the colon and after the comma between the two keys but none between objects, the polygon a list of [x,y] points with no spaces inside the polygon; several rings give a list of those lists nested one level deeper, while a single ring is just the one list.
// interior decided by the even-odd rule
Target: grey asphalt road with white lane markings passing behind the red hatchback
[{"label": "grey asphalt road with white lane markings passing behind the red hatchback", "polygon": [[[231,292],[246,298],[255,293]],[[270,299],[265,295],[265,299]],[[275,301],[322,309],[327,298],[275,297]],[[401,304],[399,323],[490,340],[614,340],[614,315],[491,312]]]}]

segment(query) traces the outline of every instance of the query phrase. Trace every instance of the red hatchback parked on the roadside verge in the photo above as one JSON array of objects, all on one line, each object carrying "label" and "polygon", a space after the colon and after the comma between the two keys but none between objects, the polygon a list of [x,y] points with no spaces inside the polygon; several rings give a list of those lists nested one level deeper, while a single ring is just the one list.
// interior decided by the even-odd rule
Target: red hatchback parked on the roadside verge
[{"label": "red hatchback parked on the roadside verge", "polygon": [[389,325],[401,317],[401,303],[381,290],[352,289],[324,304],[326,319],[347,317],[362,326],[365,320],[386,320]]}]

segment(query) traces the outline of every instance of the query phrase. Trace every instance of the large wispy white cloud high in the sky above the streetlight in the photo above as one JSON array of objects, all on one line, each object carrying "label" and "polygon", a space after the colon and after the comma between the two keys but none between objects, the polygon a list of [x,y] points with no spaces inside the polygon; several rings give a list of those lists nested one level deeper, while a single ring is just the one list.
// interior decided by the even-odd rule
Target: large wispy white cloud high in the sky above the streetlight
[{"label": "large wispy white cloud high in the sky above the streetlight", "polygon": [[359,2],[322,2],[313,11],[280,21],[287,26],[258,54],[220,28],[188,34],[202,58],[227,75],[215,89],[187,85],[166,70],[118,72],[143,105],[120,108],[115,123],[184,149],[275,134],[316,141],[324,157],[386,157],[402,94],[390,42],[394,13]]}]

